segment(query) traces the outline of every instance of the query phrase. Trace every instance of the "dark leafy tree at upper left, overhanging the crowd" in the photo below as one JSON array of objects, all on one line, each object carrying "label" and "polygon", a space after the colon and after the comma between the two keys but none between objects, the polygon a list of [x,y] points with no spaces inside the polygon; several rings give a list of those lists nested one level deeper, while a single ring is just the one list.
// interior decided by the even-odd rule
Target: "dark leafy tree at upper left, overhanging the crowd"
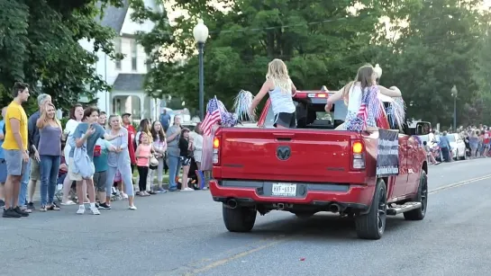
[{"label": "dark leafy tree at upper left, overhanging the crowd", "polygon": [[[121,0],[19,0],[0,2],[0,103],[10,102],[5,93],[15,81],[32,85],[33,95],[49,93],[57,107],[68,109],[80,94],[93,98],[109,90],[95,72],[95,51],[102,49],[112,58],[114,31],[95,22],[105,4],[119,6]],[[83,49],[79,40],[94,41],[94,52]],[[32,109],[36,109],[32,102]]]}]

